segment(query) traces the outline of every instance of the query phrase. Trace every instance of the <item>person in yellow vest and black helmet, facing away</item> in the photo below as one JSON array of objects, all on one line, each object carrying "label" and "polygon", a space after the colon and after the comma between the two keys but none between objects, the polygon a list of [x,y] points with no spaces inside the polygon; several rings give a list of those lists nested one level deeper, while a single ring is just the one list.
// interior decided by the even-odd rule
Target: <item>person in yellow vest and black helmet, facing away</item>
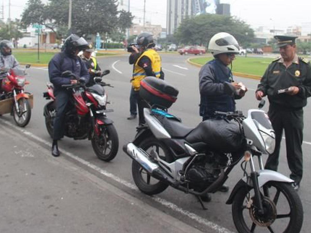
[{"label": "person in yellow vest and black helmet, facing away", "polygon": [[[153,35],[149,33],[141,33],[137,37],[137,45],[139,51],[142,52],[140,57],[134,65],[132,86],[134,91],[138,92],[140,88],[140,81],[147,76],[154,76],[160,79],[164,79],[164,73],[161,68],[161,57],[154,50],[155,43],[153,41]],[[140,98],[137,98],[138,105],[138,117],[139,125],[145,124],[145,117],[143,109],[147,107],[146,102]]]}]

